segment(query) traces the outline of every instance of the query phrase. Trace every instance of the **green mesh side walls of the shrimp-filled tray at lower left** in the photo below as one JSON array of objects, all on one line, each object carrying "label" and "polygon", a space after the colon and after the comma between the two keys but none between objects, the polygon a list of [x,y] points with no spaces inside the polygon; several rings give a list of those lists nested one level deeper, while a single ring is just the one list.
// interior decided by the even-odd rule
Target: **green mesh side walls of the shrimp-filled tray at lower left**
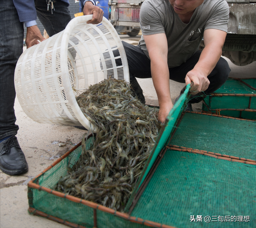
[{"label": "green mesh side walls of the shrimp-filled tray at lower left", "polygon": [[[92,146],[92,138],[86,141],[86,149]],[[36,178],[34,183],[53,189],[61,176],[66,176],[67,167],[74,164],[82,153],[82,147],[78,147],[68,157],[60,161],[57,165],[46,171]],[[28,188],[29,206],[50,216],[60,218],[64,221],[72,222],[86,228],[94,227],[94,209],[81,203],[72,202],[66,198],[61,198],[39,190]],[[74,226],[78,227],[78,226]],[[97,227],[98,228],[145,228],[143,224],[138,224],[120,218],[115,214],[110,214],[97,210]]]}]

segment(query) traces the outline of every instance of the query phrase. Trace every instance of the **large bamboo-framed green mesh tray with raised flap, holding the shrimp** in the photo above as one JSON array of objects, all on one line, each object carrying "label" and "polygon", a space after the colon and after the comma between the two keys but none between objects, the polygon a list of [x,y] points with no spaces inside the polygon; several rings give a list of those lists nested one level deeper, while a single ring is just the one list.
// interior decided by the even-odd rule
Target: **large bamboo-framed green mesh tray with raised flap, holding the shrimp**
[{"label": "large bamboo-framed green mesh tray with raised flap, holding the shrimp", "polygon": [[256,122],[182,113],[188,89],[160,131],[129,199],[130,214],[52,190],[79,159],[79,145],[28,183],[29,212],[80,228],[223,227],[191,223],[192,215],[250,216],[250,222],[225,227],[256,227]]}]

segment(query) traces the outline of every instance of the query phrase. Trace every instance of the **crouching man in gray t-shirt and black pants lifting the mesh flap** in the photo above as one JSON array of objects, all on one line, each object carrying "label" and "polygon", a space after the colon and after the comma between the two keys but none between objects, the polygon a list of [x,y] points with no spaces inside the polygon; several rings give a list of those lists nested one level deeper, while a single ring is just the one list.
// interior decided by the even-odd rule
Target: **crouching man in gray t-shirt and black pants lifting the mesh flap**
[{"label": "crouching man in gray t-shirt and black pants lifting the mesh flap", "polygon": [[[229,7],[224,0],[146,0],[140,10],[142,38],[138,46],[123,42],[130,83],[145,102],[135,77],[152,77],[158,96],[158,119],[164,122],[173,107],[169,79],[189,84],[193,98],[210,94],[228,79],[230,68],[221,58]],[[205,48],[198,51],[204,37]],[[204,91],[204,93],[202,93]],[[197,94],[197,95],[196,95]],[[190,104],[190,109],[191,104]]]}]

